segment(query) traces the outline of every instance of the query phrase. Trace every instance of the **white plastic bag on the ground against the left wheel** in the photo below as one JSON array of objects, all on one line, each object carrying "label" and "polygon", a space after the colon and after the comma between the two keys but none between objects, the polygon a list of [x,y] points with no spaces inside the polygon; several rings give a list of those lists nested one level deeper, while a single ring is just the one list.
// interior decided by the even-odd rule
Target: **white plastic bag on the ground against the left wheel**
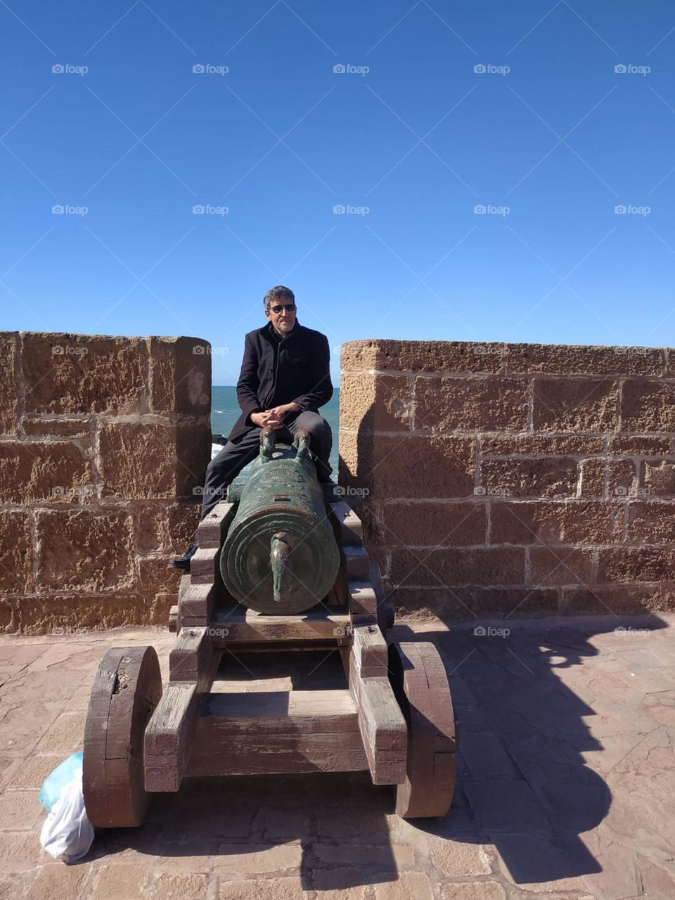
[{"label": "white plastic bag on the ground against the left wheel", "polygon": [[86,817],[80,767],[51,807],[42,825],[40,843],[55,860],[75,862],[85,856],[93,841],[94,828]]}]

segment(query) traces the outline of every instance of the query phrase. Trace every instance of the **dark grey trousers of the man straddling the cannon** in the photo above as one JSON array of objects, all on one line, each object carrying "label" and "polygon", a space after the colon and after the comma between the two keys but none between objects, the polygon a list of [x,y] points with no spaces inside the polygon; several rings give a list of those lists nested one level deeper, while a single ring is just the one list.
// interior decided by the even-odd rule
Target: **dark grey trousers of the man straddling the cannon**
[{"label": "dark grey trousers of the man straddling the cannon", "polygon": [[[293,436],[300,428],[310,432],[310,453],[317,468],[320,482],[329,482],[332,469],[329,464],[333,435],[329,423],[318,412],[286,413],[284,428],[275,428],[275,439],[279,444],[293,444]],[[255,459],[260,452],[260,432],[262,428],[251,428],[236,442],[228,441],[220,453],[213,457],[206,469],[203,487],[202,518],[220,500],[225,500],[228,485],[238,476],[245,465]]]}]

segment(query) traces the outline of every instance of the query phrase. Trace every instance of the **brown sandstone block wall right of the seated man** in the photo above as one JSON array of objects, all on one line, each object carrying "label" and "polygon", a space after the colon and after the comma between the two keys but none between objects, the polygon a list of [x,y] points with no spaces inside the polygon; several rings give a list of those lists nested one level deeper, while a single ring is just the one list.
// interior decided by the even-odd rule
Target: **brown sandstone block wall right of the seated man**
[{"label": "brown sandstone block wall right of the seated man", "polygon": [[340,482],[401,614],[675,608],[675,351],[342,347]]}]

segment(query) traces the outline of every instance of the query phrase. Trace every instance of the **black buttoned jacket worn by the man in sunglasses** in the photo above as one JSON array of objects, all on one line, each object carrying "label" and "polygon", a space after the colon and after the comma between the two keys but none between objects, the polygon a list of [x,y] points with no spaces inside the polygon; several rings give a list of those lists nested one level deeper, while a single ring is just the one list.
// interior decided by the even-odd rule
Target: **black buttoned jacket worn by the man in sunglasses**
[{"label": "black buttoned jacket worn by the man in sunglasses", "polygon": [[298,320],[285,338],[276,335],[271,322],[249,331],[237,383],[241,415],[229,440],[236,441],[256,428],[248,419],[252,412],[291,402],[303,412],[317,412],[333,396],[329,361],[328,338],[320,331],[304,328]]}]

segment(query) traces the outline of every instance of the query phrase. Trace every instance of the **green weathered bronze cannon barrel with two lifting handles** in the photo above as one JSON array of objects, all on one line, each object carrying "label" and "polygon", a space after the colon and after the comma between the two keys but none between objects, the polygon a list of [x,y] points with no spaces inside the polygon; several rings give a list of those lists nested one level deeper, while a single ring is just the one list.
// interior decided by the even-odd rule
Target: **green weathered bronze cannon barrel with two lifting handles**
[{"label": "green weathered bronze cannon barrel with two lifting handles", "polygon": [[220,554],[220,574],[234,599],[260,613],[301,613],[335,583],[340,556],[323,491],[309,455],[310,435],[293,446],[260,435],[260,454],[243,487],[230,485],[237,504]]}]

